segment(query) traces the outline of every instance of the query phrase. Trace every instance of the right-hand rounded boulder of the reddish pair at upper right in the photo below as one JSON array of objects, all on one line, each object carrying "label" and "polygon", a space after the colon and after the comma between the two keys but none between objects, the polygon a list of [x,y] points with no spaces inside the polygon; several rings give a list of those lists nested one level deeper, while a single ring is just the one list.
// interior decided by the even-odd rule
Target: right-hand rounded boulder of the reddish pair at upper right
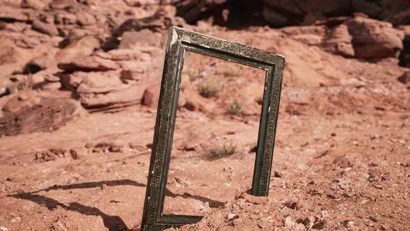
[{"label": "right-hand rounded boulder of the reddish pair at upper right", "polygon": [[391,23],[360,15],[345,23],[357,58],[397,58],[403,49],[404,31],[393,28]]}]

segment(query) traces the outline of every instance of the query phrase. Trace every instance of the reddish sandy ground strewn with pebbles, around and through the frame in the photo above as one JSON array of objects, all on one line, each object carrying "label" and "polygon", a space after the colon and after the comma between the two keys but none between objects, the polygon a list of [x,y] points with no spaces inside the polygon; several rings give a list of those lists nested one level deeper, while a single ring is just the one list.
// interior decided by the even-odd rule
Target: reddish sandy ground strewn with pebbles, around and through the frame
[{"label": "reddish sandy ground strewn with pebbles, around and through the frame", "polygon": [[[258,100],[244,115],[227,114],[247,86],[255,84],[249,95],[259,93],[263,75],[256,79],[261,73],[247,67],[238,74],[192,55],[186,74],[200,67],[224,78],[224,86],[204,99],[212,112],[177,114],[165,213],[205,216],[183,230],[409,230],[409,88],[395,79],[402,69],[293,40],[272,45],[258,36],[249,32],[239,42],[288,52],[289,59],[268,198],[247,194]],[[304,58],[309,61],[298,66]],[[218,70],[222,66],[228,72]],[[306,78],[298,79],[304,72]],[[155,117],[154,108],[132,106],[83,113],[54,132],[1,137],[2,230],[139,230]],[[218,145],[233,145],[236,152],[208,159],[207,150]]]}]

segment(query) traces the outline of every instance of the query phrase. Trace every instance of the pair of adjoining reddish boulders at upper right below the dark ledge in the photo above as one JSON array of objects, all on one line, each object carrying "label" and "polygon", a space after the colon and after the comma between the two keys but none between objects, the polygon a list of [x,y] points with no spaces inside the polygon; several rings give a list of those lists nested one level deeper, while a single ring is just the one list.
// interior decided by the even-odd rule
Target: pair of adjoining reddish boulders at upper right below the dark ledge
[{"label": "pair of adjoining reddish boulders at upper right below the dark ledge", "polygon": [[313,26],[290,26],[281,31],[307,45],[345,57],[397,58],[403,49],[402,30],[363,14],[329,18]]}]

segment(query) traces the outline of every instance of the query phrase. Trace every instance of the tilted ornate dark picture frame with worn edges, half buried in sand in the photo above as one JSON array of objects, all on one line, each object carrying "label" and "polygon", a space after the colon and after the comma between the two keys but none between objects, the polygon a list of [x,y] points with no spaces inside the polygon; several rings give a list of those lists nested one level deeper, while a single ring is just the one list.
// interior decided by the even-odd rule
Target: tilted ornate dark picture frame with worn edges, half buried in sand
[{"label": "tilted ornate dark picture frame with worn edges, half buried in sand", "polygon": [[252,195],[268,196],[284,56],[172,26],[165,53],[141,230],[179,227],[202,218],[163,214],[179,84],[186,50],[266,70]]}]

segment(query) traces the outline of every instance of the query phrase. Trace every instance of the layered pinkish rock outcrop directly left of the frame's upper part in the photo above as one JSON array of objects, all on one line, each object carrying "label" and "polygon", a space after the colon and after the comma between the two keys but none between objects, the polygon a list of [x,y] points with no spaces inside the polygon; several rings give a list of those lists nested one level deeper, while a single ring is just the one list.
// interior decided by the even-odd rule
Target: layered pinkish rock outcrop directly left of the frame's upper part
[{"label": "layered pinkish rock outcrop directly left of the frame's upper part", "polygon": [[140,104],[152,81],[161,77],[163,51],[134,47],[96,52],[69,63],[59,63],[63,88],[72,90],[89,111],[121,109]]}]

